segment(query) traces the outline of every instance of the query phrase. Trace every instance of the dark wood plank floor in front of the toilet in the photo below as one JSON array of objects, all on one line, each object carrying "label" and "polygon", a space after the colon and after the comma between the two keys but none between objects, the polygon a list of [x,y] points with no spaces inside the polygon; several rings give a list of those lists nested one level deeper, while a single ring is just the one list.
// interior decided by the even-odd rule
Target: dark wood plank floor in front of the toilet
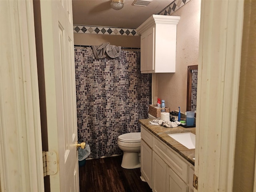
[{"label": "dark wood plank floor in front of the toilet", "polygon": [[140,168],[121,167],[122,156],[86,160],[79,168],[80,192],[152,192]]}]

